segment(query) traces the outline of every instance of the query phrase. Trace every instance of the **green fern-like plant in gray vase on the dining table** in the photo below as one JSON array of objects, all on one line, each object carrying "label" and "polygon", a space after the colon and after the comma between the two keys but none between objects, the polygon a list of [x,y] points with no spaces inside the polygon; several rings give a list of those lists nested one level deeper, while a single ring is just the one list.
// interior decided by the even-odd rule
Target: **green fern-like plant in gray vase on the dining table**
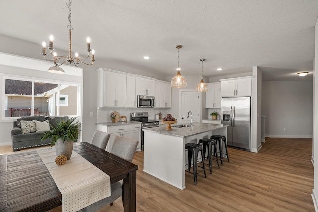
[{"label": "green fern-like plant in gray vase on the dining table", "polygon": [[66,155],[69,160],[73,151],[73,142],[78,140],[80,123],[77,118],[72,117],[67,121],[61,118],[56,126],[49,123],[51,131],[45,132],[40,141],[51,138],[51,146],[55,145],[56,156]]}]

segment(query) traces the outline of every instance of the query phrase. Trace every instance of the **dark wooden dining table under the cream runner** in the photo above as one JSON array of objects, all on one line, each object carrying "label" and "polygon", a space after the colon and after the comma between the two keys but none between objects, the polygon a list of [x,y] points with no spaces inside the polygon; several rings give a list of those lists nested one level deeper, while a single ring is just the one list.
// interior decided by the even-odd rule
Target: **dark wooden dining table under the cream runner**
[{"label": "dark wooden dining table under the cream runner", "polygon": [[[136,211],[137,165],[87,142],[74,143],[73,151],[109,175],[110,183],[123,180],[124,212]],[[60,205],[62,194],[36,150],[0,155],[1,212],[44,212]]]}]

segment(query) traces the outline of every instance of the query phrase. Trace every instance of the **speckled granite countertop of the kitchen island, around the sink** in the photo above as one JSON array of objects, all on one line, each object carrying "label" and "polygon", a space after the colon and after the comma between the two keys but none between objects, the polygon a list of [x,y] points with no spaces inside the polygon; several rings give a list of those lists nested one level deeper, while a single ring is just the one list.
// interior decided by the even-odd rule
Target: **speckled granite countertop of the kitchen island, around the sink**
[{"label": "speckled granite countertop of the kitchen island, around the sink", "polygon": [[191,127],[183,127],[183,128],[177,128],[171,126],[172,130],[165,130],[166,129],[166,124],[161,125],[159,127],[153,127],[153,128],[146,128],[143,129],[144,131],[150,131],[153,133],[159,133],[162,135],[170,135],[170,136],[175,136],[175,137],[189,137],[192,135],[200,134],[203,132],[208,132],[211,130],[216,130],[216,129],[221,129],[224,127],[228,127],[228,125],[223,125],[223,124],[208,124],[208,123],[193,123],[193,127],[191,130]]}]

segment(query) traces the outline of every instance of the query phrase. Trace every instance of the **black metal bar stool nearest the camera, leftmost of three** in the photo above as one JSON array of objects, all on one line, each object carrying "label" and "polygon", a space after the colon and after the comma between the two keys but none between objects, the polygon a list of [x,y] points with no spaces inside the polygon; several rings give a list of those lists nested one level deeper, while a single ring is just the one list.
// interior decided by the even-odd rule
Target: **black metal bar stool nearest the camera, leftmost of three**
[{"label": "black metal bar stool nearest the camera, leftmost of three", "polygon": [[[202,160],[204,160],[203,152],[202,152],[202,145],[196,144],[196,143],[187,143],[187,144],[185,144],[185,149],[188,150],[188,162],[189,162],[188,163],[188,170],[185,170],[185,171],[193,174],[193,176],[194,176],[194,185],[197,185],[197,174],[198,173],[204,171],[204,176],[205,176],[205,178],[207,177],[207,175],[205,173],[205,168],[204,168],[204,161],[202,161],[203,170],[201,170],[199,172],[197,170],[199,151],[201,152]],[[192,155],[193,155],[193,173],[190,172]]]}]

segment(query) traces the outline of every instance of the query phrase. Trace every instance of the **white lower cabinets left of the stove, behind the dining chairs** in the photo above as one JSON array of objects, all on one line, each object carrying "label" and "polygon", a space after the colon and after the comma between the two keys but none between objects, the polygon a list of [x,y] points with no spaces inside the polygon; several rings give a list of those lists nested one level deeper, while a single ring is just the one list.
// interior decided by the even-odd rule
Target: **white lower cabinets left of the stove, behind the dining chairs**
[{"label": "white lower cabinets left of the stove, behind the dining chairs", "polygon": [[[106,146],[106,151],[110,151],[111,147],[114,143],[116,135],[130,138],[130,139],[136,139],[138,140],[138,146],[136,148],[136,151],[140,151],[141,147],[141,123],[138,124],[126,124],[126,125],[119,125],[119,126],[107,126],[104,124],[97,124],[97,130],[107,132],[110,134],[110,138],[108,141],[108,144]],[[138,133],[137,133],[138,131]]]}]

